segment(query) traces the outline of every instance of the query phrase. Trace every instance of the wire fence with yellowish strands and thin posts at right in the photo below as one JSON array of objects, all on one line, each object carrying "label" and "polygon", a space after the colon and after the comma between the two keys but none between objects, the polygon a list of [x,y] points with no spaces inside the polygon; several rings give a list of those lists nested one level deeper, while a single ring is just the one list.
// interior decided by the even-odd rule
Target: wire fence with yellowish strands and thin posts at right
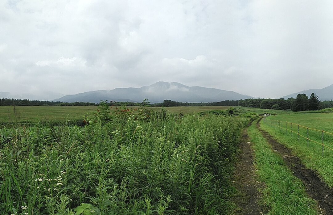
[{"label": "wire fence with yellowish strands and thin posts at right", "polygon": [[309,128],[288,121],[266,119],[266,117],[263,118],[263,121],[280,133],[290,135],[291,137],[296,135],[298,143],[300,142],[300,138],[303,138],[306,140],[307,146],[310,146],[310,143],[321,145],[322,156],[324,156],[325,148],[333,152],[333,134],[330,132]]}]

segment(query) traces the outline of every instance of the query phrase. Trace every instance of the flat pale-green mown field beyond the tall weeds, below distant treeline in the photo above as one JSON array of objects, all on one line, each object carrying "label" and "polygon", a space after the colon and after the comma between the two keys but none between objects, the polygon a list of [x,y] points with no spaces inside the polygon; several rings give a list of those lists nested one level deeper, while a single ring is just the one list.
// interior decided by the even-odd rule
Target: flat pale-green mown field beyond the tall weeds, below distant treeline
[{"label": "flat pale-green mown field beyond the tall weeds, below distant treeline", "polygon": [[[97,110],[97,106],[15,106],[15,112],[13,106],[0,106],[0,121],[52,121],[52,120],[74,120],[74,119],[84,119],[87,115],[88,117],[92,115],[93,112]],[[119,107],[120,108],[120,107]],[[130,106],[129,109],[151,109],[159,110],[161,107],[138,107]],[[188,106],[188,107],[166,107],[168,113],[200,113],[211,110],[227,110],[230,106]],[[245,108],[245,107],[232,107],[240,114],[244,113],[271,113],[271,114],[281,114],[285,111],[279,110],[266,110],[258,108]],[[116,107],[110,107],[110,113],[114,114]]]}]

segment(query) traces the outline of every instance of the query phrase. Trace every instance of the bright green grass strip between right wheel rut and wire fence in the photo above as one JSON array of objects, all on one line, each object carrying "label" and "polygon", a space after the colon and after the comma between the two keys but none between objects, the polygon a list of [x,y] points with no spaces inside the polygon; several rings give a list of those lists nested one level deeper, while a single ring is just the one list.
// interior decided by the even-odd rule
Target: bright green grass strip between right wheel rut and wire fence
[{"label": "bright green grass strip between right wheel rut and wire fence", "polygon": [[[263,123],[263,121],[261,121],[260,126],[262,129],[268,131],[268,133],[281,144],[291,149],[292,153],[299,157],[301,162],[307,168],[318,172],[329,187],[333,187],[332,150],[324,148],[324,154],[322,156],[322,147],[320,144],[309,142],[308,145],[306,139],[304,138],[300,138],[298,141],[297,134],[291,134],[289,131],[285,132],[285,129],[279,131],[278,128],[276,129],[275,127],[272,127],[269,123]],[[316,139],[316,136],[310,136],[310,139],[315,139],[316,141],[321,142],[319,138]],[[331,146],[331,144],[327,141],[325,141],[324,144]]]}]

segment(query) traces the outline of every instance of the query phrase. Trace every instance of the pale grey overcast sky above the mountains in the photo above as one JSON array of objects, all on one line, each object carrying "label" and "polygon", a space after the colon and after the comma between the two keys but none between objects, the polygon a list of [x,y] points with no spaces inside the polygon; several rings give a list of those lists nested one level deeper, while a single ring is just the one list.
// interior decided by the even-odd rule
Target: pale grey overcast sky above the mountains
[{"label": "pale grey overcast sky above the mountains", "polygon": [[275,98],[323,88],[332,11],[330,0],[0,0],[0,91],[52,99],[175,81]]}]

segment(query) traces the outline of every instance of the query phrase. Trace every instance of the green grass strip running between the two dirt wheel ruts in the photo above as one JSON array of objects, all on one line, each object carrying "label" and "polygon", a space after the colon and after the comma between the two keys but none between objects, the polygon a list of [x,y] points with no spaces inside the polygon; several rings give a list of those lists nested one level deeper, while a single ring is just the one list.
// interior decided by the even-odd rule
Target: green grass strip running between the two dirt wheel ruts
[{"label": "green grass strip running between the two dirt wheel ruts", "polygon": [[265,184],[259,204],[269,209],[268,214],[317,214],[316,202],[309,198],[302,182],[292,175],[282,158],[255,127],[248,128],[255,150],[255,163],[259,180]]}]

